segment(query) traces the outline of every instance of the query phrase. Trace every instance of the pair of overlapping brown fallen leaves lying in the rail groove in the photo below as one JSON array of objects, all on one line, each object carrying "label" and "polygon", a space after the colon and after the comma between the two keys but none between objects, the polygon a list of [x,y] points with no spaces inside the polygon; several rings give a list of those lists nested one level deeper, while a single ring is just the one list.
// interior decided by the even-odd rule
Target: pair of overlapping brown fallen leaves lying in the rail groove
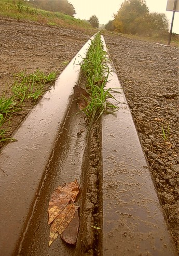
[{"label": "pair of overlapping brown fallen leaves lying in the rail groove", "polygon": [[[51,195],[51,200],[49,202],[49,221],[50,227],[50,240],[49,246],[54,240],[57,239],[58,234],[61,235],[67,228],[67,232],[64,233],[66,242],[70,241],[70,244],[75,244],[78,234],[79,218],[78,218],[78,206],[73,202],[79,193],[79,184],[75,180],[74,182],[67,183],[63,187],[59,186],[54,190]],[[77,216],[76,216],[77,214]],[[78,219],[78,227],[75,218]],[[70,227],[68,227],[70,225]],[[71,232],[69,235],[67,235]],[[74,234],[72,233],[74,232]],[[65,239],[64,239],[65,240]]]}]

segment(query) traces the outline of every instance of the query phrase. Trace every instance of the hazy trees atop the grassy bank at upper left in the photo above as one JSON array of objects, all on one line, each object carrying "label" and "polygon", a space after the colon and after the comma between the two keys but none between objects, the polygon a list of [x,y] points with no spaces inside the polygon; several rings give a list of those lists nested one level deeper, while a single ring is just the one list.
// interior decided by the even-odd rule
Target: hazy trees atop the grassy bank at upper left
[{"label": "hazy trees atop the grassy bank at upper left", "polygon": [[30,2],[32,6],[39,9],[59,11],[72,17],[76,14],[74,6],[67,0],[34,0]]}]

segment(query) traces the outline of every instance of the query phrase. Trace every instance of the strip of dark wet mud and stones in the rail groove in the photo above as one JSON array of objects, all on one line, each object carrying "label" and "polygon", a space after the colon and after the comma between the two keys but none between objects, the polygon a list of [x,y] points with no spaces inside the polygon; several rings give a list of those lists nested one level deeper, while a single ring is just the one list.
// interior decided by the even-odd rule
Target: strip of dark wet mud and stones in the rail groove
[{"label": "strip of dark wet mud and stones in the rail groove", "polygon": [[82,174],[84,197],[77,255],[102,255],[102,148],[101,122],[94,123],[88,137],[88,154]]}]

